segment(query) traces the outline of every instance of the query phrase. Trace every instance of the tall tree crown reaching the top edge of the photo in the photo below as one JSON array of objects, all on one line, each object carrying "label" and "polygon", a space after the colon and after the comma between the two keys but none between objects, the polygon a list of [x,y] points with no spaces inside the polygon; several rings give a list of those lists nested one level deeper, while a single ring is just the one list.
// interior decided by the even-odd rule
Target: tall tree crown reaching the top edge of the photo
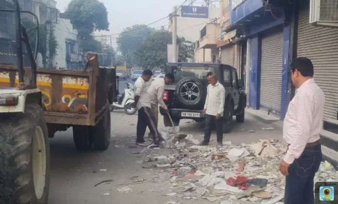
[{"label": "tall tree crown reaching the top edge of the photo", "polygon": [[94,30],[108,31],[107,8],[99,0],[71,0],[65,15],[82,38],[88,38]]}]

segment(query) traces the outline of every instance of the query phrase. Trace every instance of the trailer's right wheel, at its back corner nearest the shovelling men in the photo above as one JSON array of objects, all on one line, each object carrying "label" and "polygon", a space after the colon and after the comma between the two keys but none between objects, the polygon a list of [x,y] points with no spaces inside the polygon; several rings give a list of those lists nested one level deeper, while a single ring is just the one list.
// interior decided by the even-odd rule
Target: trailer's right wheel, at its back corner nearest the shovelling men
[{"label": "trailer's right wheel, at its back corner nearest the shovelling men", "polygon": [[94,147],[97,150],[106,150],[109,147],[110,143],[110,111],[109,111],[109,103],[107,102],[106,111],[104,116],[101,118],[96,126],[92,126],[92,136]]}]

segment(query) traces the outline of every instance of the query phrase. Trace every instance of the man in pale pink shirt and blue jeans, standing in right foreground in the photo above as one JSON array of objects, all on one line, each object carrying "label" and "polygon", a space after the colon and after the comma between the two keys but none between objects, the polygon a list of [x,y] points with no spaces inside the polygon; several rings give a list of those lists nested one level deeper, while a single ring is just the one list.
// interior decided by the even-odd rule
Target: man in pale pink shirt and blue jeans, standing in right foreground
[{"label": "man in pale pink shirt and blue jeans, standing in right foreground", "polygon": [[285,204],[315,204],[314,176],[321,164],[320,131],[324,94],[312,78],[313,64],[305,57],[291,64],[291,80],[297,88],[284,119],[287,154],[280,164],[286,176]]}]

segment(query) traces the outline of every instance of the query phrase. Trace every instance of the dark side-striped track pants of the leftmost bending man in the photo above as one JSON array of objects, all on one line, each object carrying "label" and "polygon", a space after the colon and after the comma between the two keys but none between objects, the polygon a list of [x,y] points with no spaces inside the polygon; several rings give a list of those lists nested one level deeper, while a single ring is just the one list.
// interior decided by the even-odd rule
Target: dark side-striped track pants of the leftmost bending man
[{"label": "dark side-striped track pants of the leftmost bending man", "polygon": [[159,141],[160,133],[157,130],[156,119],[149,107],[142,107],[137,114],[136,142],[144,142],[147,126],[153,136],[154,142]]}]

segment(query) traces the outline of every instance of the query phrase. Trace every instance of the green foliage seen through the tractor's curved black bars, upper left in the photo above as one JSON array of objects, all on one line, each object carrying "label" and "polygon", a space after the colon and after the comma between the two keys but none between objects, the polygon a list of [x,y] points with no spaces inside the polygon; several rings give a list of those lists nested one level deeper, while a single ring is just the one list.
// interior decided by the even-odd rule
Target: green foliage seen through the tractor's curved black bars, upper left
[{"label": "green foliage seen through the tractor's curved black bars, upper left", "polygon": [[[36,26],[36,24],[28,19],[22,19],[21,23],[26,28],[28,39],[32,48],[32,51],[34,52],[35,49],[35,42],[36,42],[36,29],[31,29]],[[54,30],[51,29],[50,35],[49,35],[49,44],[50,44],[50,57],[53,59],[56,56],[56,49],[59,47],[59,43],[56,40],[56,36],[54,34]],[[43,24],[39,25],[39,45],[37,48],[37,51],[41,53],[43,63],[46,63],[46,52],[47,52],[47,39],[46,39],[46,27]],[[51,61],[50,59],[50,61]]]}]

